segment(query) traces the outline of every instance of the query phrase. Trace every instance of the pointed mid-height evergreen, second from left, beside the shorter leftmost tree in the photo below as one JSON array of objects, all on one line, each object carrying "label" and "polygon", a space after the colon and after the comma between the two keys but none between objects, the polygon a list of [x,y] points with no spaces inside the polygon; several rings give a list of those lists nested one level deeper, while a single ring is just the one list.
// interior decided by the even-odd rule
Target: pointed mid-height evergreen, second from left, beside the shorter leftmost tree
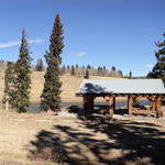
[{"label": "pointed mid-height evergreen, second from left, beside the shorter leftmost tree", "polygon": [[26,41],[25,30],[22,31],[22,41],[20,47],[19,59],[14,66],[14,90],[12,92],[12,108],[16,111],[26,112],[30,107],[30,91],[31,91],[31,56],[30,47]]}]

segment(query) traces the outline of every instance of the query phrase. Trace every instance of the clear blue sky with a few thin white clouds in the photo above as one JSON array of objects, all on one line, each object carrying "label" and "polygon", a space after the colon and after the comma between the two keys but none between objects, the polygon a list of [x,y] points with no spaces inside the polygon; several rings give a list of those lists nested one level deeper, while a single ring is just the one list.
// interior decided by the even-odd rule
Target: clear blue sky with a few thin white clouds
[{"label": "clear blue sky with a few thin white clouds", "polygon": [[36,64],[50,46],[55,16],[64,24],[63,64],[106,66],[145,76],[164,41],[165,0],[0,0],[0,59],[15,62],[22,29]]}]

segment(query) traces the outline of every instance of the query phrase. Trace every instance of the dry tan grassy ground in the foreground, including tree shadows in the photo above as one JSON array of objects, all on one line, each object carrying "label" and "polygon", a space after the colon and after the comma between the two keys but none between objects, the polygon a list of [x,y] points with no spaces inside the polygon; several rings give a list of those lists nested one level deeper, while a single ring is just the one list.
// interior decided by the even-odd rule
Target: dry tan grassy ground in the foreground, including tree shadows
[{"label": "dry tan grassy ground in the foreground, including tree shadows", "polygon": [[0,110],[0,165],[163,165],[164,153],[164,118]]}]

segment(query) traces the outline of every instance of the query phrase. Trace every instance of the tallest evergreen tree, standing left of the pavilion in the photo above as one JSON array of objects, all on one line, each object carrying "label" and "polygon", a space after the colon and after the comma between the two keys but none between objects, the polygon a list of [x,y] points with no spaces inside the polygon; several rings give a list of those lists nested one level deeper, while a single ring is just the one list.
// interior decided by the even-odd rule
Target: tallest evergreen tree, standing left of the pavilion
[{"label": "tallest evergreen tree, standing left of the pavilion", "polygon": [[63,53],[63,24],[61,24],[61,18],[57,14],[51,35],[50,52],[46,51],[45,59],[48,65],[45,73],[44,89],[41,95],[40,109],[56,111],[61,108],[61,92],[62,82],[59,81],[59,65],[62,63],[61,54]]}]

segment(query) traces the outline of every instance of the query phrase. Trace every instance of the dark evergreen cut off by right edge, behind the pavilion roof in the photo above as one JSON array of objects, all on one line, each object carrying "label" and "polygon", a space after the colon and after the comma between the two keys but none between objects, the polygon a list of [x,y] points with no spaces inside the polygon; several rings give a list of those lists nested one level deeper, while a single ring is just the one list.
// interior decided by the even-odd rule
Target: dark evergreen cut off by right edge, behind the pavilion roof
[{"label": "dark evergreen cut off by right edge, behind the pavilion roof", "polygon": [[[165,36],[165,33],[163,33]],[[152,73],[148,73],[148,78],[162,78],[163,82],[165,84],[165,40],[164,42],[157,42],[155,43],[157,47],[161,47],[157,52],[155,52],[155,57],[157,59],[157,63],[153,67]]]}]

